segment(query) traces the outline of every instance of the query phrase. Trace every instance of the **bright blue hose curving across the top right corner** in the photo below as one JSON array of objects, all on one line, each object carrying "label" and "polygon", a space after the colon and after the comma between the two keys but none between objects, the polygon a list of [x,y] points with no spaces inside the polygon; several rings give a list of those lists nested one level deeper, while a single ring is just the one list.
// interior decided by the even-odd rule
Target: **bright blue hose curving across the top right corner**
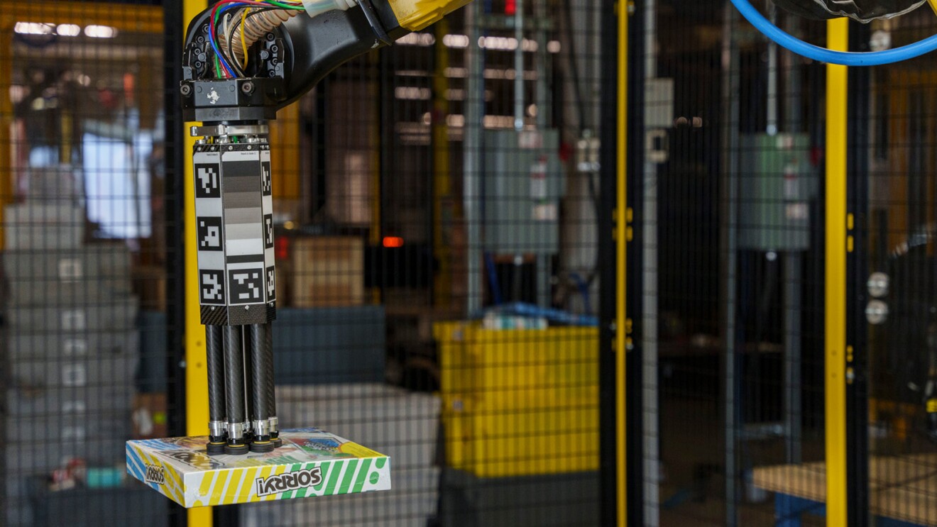
[{"label": "bright blue hose curving across the top right corner", "polygon": [[748,0],[732,0],[732,3],[736,6],[738,12],[740,12],[746,20],[751,22],[751,25],[755,26],[755,29],[760,31],[765,37],[774,40],[782,48],[794,51],[798,55],[803,55],[815,61],[839,64],[841,66],[882,66],[913,59],[925,53],[930,53],[930,51],[937,50],[937,35],[919,40],[914,44],[895,48],[894,50],[861,53],[827,50],[826,48],[808,44],[799,38],[792,37],[781,31],[778,26],[769,22],[758,12],[758,9],[751,7]]}]

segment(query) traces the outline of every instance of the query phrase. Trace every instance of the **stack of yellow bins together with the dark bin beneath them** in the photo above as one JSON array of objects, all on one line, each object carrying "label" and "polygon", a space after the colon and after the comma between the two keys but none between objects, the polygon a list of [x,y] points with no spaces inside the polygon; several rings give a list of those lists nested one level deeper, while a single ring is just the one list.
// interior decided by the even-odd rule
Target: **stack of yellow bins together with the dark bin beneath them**
[{"label": "stack of yellow bins together with the dark bin beneath them", "polygon": [[599,522],[599,331],[434,326],[451,527]]}]

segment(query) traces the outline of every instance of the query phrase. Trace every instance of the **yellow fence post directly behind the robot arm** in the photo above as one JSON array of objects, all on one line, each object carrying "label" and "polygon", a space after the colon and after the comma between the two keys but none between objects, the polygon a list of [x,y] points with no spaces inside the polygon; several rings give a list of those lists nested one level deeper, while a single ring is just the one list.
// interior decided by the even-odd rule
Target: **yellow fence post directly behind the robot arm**
[{"label": "yellow fence post directly behind the robot arm", "polygon": [[[205,0],[183,0],[183,23],[188,24],[207,7]],[[186,27],[182,28],[185,35]],[[182,56],[182,50],[175,57],[166,60],[176,62]],[[178,86],[168,86],[178,89]],[[192,168],[192,148],[195,138],[189,136],[187,125],[181,130],[185,146],[183,166],[186,181],[183,183],[183,197],[186,200],[185,229],[183,236],[186,243],[186,435],[208,434],[208,372],[205,366],[205,328],[201,325],[199,310],[199,260],[195,233],[195,183]],[[190,527],[212,527],[211,507],[188,509]]]}]

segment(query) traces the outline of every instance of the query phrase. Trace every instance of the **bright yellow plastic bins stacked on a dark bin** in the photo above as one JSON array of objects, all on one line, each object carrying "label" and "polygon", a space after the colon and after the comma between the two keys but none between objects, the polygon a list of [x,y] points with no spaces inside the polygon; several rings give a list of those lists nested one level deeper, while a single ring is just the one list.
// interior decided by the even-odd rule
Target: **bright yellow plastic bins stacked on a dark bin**
[{"label": "bright yellow plastic bins stacked on a dark bin", "polygon": [[599,330],[433,328],[446,462],[479,477],[599,468]]}]

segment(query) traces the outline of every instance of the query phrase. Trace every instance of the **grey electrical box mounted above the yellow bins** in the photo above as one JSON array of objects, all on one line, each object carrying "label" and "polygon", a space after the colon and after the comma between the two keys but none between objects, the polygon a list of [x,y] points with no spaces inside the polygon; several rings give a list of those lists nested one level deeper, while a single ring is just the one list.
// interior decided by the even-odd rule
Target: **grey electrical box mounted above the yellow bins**
[{"label": "grey electrical box mounted above the yellow bins", "polygon": [[553,255],[559,245],[563,168],[558,130],[484,135],[484,249]]}]

